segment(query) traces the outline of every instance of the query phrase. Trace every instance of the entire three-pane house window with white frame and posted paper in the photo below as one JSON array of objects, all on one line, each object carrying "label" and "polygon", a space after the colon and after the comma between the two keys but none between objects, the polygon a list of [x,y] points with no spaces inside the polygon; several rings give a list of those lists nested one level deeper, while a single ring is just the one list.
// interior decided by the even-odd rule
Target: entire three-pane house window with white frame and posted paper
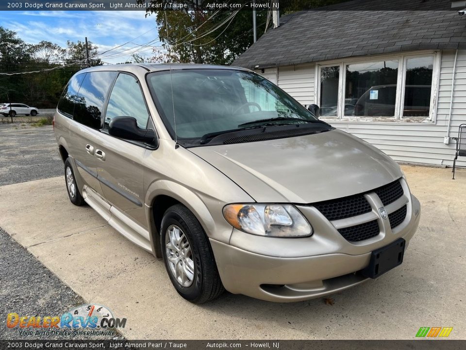
[{"label": "entire three-pane house window with white frame and posted paper", "polygon": [[347,121],[432,121],[439,55],[351,58],[317,66],[320,115]]}]

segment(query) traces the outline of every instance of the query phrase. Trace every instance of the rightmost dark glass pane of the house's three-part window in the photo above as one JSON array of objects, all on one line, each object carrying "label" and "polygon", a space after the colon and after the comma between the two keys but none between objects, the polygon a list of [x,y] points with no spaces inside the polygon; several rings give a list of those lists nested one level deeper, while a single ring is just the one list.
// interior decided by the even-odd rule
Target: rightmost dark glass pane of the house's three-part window
[{"label": "rightmost dark glass pane of the house's three-part window", "polygon": [[406,60],[404,117],[428,117],[431,106],[433,56]]}]

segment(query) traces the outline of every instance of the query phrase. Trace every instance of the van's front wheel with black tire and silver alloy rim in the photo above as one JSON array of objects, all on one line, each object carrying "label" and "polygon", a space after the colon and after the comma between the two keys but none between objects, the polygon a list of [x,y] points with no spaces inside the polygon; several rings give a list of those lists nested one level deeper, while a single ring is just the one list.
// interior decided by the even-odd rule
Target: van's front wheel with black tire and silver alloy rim
[{"label": "van's front wheel with black tire and silver alloy rim", "polygon": [[194,214],[181,204],[174,205],[166,210],[161,226],[163,259],[178,294],[195,304],[220,296],[224,288],[214,254]]}]

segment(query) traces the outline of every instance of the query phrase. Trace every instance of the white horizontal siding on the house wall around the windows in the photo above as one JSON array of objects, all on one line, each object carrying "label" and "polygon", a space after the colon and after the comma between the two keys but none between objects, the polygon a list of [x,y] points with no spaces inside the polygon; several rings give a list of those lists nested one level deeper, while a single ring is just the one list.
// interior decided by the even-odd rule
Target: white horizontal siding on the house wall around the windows
[{"label": "white horizontal siding on the house wall around the windows", "polygon": [[[433,123],[345,122],[329,121],[333,126],[366,140],[400,162],[452,166],[455,142],[443,143],[447,136],[451,79],[455,50],[441,54],[437,113]],[[361,58],[364,59],[364,58]],[[325,64],[325,62],[319,62]],[[315,103],[316,65],[279,67],[278,86],[302,105]],[[466,50],[459,50],[449,137],[456,137],[458,126],[466,123]],[[458,166],[466,166],[466,158],[459,157]]]}]

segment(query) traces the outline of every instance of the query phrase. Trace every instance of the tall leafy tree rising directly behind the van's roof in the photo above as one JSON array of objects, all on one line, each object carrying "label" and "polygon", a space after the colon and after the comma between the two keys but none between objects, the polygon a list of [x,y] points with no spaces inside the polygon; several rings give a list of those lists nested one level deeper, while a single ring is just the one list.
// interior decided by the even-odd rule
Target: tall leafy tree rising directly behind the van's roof
[{"label": "tall leafy tree rising directly behind the van's roof", "polygon": [[[170,0],[138,0],[162,3]],[[186,9],[159,11],[157,26],[162,50],[153,61],[231,64],[252,44],[252,11],[205,10],[198,0],[182,0]],[[149,9],[147,15],[154,10]],[[266,29],[266,11],[257,11],[257,34]],[[269,23],[270,24],[270,23]]]}]

